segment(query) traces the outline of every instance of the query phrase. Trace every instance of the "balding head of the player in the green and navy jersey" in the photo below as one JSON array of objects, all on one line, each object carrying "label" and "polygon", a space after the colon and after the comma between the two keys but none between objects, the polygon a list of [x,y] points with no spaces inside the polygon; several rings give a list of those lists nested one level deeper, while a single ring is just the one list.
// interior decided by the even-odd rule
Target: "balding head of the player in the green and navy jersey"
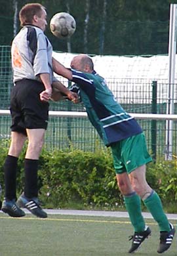
[{"label": "balding head of the player in the green and navy jersey", "polygon": [[79,54],[71,60],[71,68],[81,72],[92,73],[94,64],[87,54]]}]

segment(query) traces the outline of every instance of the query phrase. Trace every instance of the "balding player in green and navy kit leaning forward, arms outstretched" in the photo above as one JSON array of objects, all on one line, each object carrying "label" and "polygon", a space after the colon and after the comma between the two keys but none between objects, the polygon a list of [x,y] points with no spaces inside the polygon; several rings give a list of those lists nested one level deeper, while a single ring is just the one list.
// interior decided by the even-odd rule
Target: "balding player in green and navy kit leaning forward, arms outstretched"
[{"label": "balding player in green and navy kit leaning forward, arms outstretched", "polygon": [[158,253],[163,253],[172,244],[174,226],[168,222],[161,199],[147,184],[146,163],[151,161],[146,140],[140,125],[117,103],[103,77],[94,71],[92,59],[79,54],[71,60],[71,70],[53,60],[56,73],[76,83],[88,118],[98,131],[106,146],[110,146],[117,177],[117,184],[123,194],[125,205],[134,227],[131,236],[133,253],[151,234],[144,221],[141,200],[157,221],[160,231]]}]

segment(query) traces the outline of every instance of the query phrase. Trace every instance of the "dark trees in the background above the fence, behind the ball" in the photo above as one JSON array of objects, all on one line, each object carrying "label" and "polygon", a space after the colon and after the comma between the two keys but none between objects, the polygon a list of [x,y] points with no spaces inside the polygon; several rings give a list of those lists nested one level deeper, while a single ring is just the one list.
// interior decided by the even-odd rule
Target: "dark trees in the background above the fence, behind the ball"
[{"label": "dark trees in the background above the fence, behind the ball", "polygon": [[[10,45],[14,37],[14,20],[18,20],[18,12],[14,17],[14,2],[17,2],[18,12],[26,3],[33,3],[32,0],[1,0],[0,45]],[[64,11],[70,12],[77,23],[76,32],[69,41],[58,40],[48,26],[46,34],[54,51],[67,52],[68,43],[72,53],[85,53],[85,49],[90,54],[117,55],[165,54],[168,51],[169,0],[111,0],[111,5],[108,0],[38,2],[47,7],[49,21],[56,12]],[[18,32],[19,21],[16,27]],[[85,29],[87,40],[83,39]]]}]

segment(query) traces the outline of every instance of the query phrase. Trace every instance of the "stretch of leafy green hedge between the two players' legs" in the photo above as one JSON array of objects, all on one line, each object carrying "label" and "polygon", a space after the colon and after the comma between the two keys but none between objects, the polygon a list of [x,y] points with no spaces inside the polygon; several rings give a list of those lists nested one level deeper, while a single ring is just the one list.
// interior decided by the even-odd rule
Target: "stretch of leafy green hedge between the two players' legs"
[{"label": "stretch of leafy green hedge between the two players' legs", "polygon": [[[82,150],[54,151],[45,154],[45,165],[40,177],[42,200],[54,207],[64,207],[69,202],[83,205],[115,205],[122,203],[109,152],[83,152]],[[50,206],[50,205],[49,205]]]}]

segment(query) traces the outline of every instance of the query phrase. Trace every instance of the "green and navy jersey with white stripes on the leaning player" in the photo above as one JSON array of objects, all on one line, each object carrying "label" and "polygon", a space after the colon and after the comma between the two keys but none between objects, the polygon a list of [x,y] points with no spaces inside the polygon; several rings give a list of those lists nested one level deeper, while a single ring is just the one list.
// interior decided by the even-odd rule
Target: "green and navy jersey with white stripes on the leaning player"
[{"label": "green and navy jersey with white stripes on the leaning player", "polygon": [[96,72],[90,74],[73,69],[71,72],[72,81],[79,86],[88,118],[106,146],[142,133],[134,117],[117,103],[103,77]]}]

